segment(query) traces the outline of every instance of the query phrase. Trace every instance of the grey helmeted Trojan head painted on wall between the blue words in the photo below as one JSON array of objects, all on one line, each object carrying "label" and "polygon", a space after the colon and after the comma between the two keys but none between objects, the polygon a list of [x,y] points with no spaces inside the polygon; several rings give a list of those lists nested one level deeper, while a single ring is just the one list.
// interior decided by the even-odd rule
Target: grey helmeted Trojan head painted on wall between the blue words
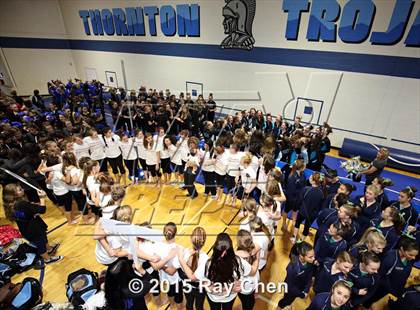
[{"label": "grey helmeted Trojan head painted on wall between the blue words", "polygon": [[223,27],[227,37],[221,48],[251,50],[254,47],[252,23],[255,16],[256,0],[226,0],[223,7]]}]

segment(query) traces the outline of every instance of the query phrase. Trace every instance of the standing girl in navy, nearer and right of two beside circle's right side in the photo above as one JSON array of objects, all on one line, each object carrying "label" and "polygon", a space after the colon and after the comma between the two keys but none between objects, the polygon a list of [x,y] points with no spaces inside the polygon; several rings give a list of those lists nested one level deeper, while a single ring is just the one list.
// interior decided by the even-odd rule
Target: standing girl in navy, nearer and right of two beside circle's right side
[{"label": "standing girl in navy, nearer and right of two beside circle's right side", "polygon": [[321,174],[315,172],[311,175],[309,182],[311,186],[306,186],[303,191],[301,192],[300,197],[300,206],[299,206],[299,213],[296,218],[295,229],[293,232],[292,242],[297,240],[299,227],[300,224],[305,221],[305,226],[303,229],[303,238],[305,238],[309,234],[309,228],[311,227],[313,221],[316,219],[319,210],[322,206],[322,201],[324,199],[324,194],[320,188],[322,183]]}]

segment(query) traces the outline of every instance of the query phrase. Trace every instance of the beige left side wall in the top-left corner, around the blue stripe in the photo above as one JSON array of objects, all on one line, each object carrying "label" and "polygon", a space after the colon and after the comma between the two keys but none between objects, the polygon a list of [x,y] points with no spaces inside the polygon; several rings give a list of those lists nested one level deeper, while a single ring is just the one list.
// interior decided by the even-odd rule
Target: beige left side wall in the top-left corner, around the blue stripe
[{"label": "beige left side wall in the top-left corner, around the blue stripe", "polygon": [[[57,0],[0,0],[0,37],[66,38],[66,30]],[[17,40],[17,44],[22,41]],[[14,87],[22,95],[34,89],[47,93],[46,81],[66,81],[76,76],[69,49],[6,48],[4,57],[14,78]]]}]

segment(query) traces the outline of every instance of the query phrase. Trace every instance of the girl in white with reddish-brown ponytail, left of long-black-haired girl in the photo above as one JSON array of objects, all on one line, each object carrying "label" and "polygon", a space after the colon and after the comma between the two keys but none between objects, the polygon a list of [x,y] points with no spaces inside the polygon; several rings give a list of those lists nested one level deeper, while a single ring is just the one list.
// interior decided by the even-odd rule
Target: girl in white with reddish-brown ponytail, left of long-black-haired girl
[{"label": "girl in white with reddish-brown ponytail, left of long-black-haired girl", "polygon": [[206,252],[202,251],[206,243],[206,231],[202,227],[194,228],[191,234],[191,249],[178,249],[178,261],[182,272],[178,271],[180,277],[188,279],[191,285],[190,293],[185,293],[187,300],[186,309],[204,309],[206,293],[198,289],[199,281],[205,280],[205,268],[209,259]]}]

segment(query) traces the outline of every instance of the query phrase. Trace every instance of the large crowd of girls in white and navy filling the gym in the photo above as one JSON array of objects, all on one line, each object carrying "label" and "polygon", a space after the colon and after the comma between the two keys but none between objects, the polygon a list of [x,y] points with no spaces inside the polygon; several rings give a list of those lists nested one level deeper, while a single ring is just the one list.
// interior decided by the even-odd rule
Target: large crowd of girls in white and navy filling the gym
[{"label": "large crowd of girls in white and navy filling the gym", "polygon": [[[418,288],[405,287],[419,258],[416,189],[407,186],[397,201],[388,199],[385,188],[392,181],[381,176],[386,149],[363,172],[366,188],[355,197],[352,185],[323,166],[331,147],[326,123],[304,126],[300,117],[289,123],[254,108],[218,115],[211,94],[193,100],[188,93],[141,87],[129,93],[110,89],[104,99],[103,89],[98,81],[51,81],[48,104],[37,90],[28,100],[0,92],[6,217],[46,264],[63,259],[56,255],[59,244],[49,243],[42,220],[47,197],[68,225],[96,223],[92,251],[107,273],[104,290],[86,302],[86,309],[147,309],[148,295],[156,305],[164,303],[159,291],[128,292],[135,277],[168,283],[167,299],[179,309],[203,309],[206,299],[211,309],[232,309],[236,297],[242,309],[253,309],[260,275],[269,269],[280,233],[290,234],[292,245],[280,309],[308,298],[311,288],[311,310],[368,308],[387,294],[397,297],[389,302],[397,309],[413,304],[407,303],[412,291],[419,305]],[[283,169],[277,160],[286,163]],[[308,179],[306,168],[314,171]],[[131,223],[133,209],[124,204],[128,186],[176,186],[195,199],[199,178],[209,199],[240,207],[236,242],[220,233],[208,255],[202,250],[206,230],[196,227],[184,248],[169,222],[164,242],[138,236],[141,264],[133,266],[128,239],[109,235],[102,220]],[[318,229],[311,242],[314,222]],[[187,279],[189,292],[182,289]],[[209,284],[204,291],[202,282]],[[232,289],[218,291],[220,283]]]}]

